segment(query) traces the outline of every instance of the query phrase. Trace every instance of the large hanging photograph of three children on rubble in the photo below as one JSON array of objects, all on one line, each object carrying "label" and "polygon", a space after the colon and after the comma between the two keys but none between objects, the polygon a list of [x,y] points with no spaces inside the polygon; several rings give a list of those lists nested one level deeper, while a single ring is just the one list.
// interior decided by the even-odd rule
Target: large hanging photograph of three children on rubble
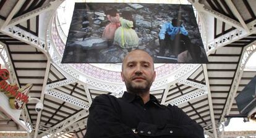
[{"label": "large hanging photograph of three children on rubble", "polygon": [[192,5],[75,3],[62,63],[121,63],[134,49],[155,63],[207,63]]}]

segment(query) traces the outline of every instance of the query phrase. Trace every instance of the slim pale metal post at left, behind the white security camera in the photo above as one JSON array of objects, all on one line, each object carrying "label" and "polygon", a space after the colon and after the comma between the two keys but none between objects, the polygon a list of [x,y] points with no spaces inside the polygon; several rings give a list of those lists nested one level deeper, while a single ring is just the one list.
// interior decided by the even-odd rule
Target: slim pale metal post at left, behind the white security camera
[{"label": "slim pale metal post at left, behind the white security camera", "polygon": [[[46,65],[46,70],[45,70],[45,79],[43,80],[43,89],[42,89],[41,95],[40,95],[41,102],[43,102],[44,99],[45,99],[45,90],[46,90],[46,84],[47,84],[47,81],[48,81],[50,67],[51,67],[51,60],[48,59],[47,60],[47,65]],[[38,134],[38,128],[39,128],[39,124],[40,124],[40,121],[41,121],[41,113],[42,112],[38,112],[37,117],[36,117],[36,126],[35,126],[34,138],[36,138],[37,134]]]}]

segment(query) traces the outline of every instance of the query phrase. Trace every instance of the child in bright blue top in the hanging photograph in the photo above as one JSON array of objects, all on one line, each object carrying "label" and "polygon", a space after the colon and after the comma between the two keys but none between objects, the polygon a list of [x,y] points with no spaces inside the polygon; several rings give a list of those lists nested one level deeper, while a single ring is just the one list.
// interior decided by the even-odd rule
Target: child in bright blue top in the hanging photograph
[{"label": "child in bright blue top in the hanging photograph", "polygon": [[160,55],[164,55],[166,49],[171,49],[173,55],[186,50],[181,43],[189,43],[188,32],[182,25],[182,21],[173,19],[172,22],[166,22],[162,25],[159,33]]}]

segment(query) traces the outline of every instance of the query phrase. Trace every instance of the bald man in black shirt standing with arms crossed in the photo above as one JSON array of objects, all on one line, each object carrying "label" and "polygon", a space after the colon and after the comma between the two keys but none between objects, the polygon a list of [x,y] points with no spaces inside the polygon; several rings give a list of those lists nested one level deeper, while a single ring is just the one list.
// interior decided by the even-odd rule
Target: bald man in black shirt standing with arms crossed
[{"label": "bald man in black shirt standing with arms crossed", "polygon": [[119,99],[103,94],[93,100],[86,138],[204,137],[202,127],[181,109],[161,105],[150,94],[156,73],[147,52],[127,54],[121,76],[127,92]]}]

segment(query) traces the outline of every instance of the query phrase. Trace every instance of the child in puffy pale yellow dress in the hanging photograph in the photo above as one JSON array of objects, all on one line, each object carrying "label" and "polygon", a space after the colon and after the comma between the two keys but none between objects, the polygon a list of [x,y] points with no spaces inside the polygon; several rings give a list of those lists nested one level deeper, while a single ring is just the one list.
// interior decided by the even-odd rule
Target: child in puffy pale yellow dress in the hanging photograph
[{"label": "child in puffy pale yellow dress in the hanging photograph", "polygon": [[[131,51],[132,48],[138,47],[139,37],[132,27],[134,27],[134,22],[130,21],[127,17],[132,17],[130,14],[122,14],[124,17],[120,18],[121,26],[117,28],[114,34],[114,44],[119,45],[122,49],[127,49]],[[126,16],[128,15],[128,16]]]}]

